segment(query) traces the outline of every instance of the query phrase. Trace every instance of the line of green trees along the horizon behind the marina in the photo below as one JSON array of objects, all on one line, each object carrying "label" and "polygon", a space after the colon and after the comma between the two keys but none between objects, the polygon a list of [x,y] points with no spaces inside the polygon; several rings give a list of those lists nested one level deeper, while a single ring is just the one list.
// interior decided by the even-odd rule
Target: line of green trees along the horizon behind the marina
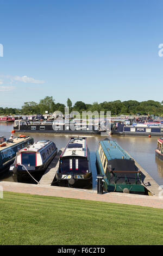
[{"label": "line of green trees along the horizon behind the marina", "polygon": [[67,99],[67,106],[62,103],[55,103],[53,96],[46,96],[44,99],[41,99],[39,103],[34,101],[24,102],[21,109],[19,108],[2,108],[0,107],[0,114],[4,115],[32,115],[32,114],[45,114],[45,111],[48,113],[53,113],[55,111],[60,111],[63,114],[65,113],[65,107],[69,107],[70,112],[78,111],[82,113],[82,111],[110,111],[111,115],[133,115],[133,114],[141,114],[141,115],[163,115],[163,101],[136,101],[136,100],[128,100],[128,101],[104,101],[102,103],[93,102],[92,104],[84,103],[83,101],[77,101],[72,105],[72,101]]}]

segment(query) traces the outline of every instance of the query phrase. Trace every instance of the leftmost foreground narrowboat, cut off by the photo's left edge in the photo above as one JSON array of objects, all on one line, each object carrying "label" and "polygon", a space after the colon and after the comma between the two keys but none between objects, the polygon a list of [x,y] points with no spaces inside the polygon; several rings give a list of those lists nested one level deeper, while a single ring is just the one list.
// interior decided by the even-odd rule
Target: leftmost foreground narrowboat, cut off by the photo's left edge
[{"label": "leftmost foreground narrowboat, cut off by the photo's left edge", "polygon": [[34,143],[33,138],[29,136],[20,136],[12,139],[0,137],[0,174],[8,172],[10,165],[14,163],[18,150]]}]

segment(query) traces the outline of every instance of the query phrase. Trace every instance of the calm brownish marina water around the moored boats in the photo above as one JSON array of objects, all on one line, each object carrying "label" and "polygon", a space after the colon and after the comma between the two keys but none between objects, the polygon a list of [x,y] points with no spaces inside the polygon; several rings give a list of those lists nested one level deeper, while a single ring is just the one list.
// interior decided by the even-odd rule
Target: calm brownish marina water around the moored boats
[{"label": "calm brownish marina water around the moored boats", "polygon": [[[6,136],[8,139],[13,130],[13,123],[3,124],[0,123],[0,136]],[[21,133],[15,133],[15,136]],[[24,134],[24,133],[23,133]],[[53,141],[57,148],[64,148],[71,135],[52,135],[49,133],[26,133],[28,136],[32,136],[34,141],[40,139],[49,139]],[[87,136],[87,146],[90,150],[91,166],[96,176],[96,150],[98,148],[99,141],[102,141],[105,137],[101,136]],[[158,137],[121,137],[111,136],[110,139],[115,140],[120,146],[126,150],[139,164],[144,168],[152,178],[159,184],[163,185],[163,161],[155,158],[155,148]],[[11,177],[3,179],[5,181],[12,181]],[[95,179],[93,181],[96,182]],[[94,184],[95,185],[95,184]]]}]

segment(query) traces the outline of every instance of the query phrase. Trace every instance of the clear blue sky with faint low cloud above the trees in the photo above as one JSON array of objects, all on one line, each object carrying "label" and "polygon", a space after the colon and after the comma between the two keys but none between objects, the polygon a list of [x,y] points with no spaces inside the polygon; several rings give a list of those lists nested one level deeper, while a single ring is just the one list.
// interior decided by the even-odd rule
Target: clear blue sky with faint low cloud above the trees
[{"label": "clear blue sky with faint low cloud above the trees", "polygon": [[163,100],[162,0],[0,0],[0,107]]}]

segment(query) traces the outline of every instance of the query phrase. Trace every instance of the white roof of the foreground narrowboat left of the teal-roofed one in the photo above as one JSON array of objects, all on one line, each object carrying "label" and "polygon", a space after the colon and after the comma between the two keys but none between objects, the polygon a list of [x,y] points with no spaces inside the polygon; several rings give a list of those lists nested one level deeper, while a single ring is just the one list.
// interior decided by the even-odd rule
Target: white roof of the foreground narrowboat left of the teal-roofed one
[{"label": "white roof of the foreground narrowboat left of the teal-roofed one", "polygon": [[87,157],[86,138],[71,138],[60,157],[72,155]]}]

